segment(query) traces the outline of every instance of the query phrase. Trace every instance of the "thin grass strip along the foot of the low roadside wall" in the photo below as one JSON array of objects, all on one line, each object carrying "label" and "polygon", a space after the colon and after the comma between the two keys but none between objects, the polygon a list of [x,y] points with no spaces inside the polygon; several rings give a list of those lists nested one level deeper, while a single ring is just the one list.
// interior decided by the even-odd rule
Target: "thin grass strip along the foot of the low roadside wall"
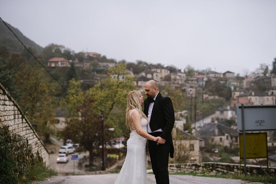
[{"label": "thin grass strip along the foot of the low roadside wall", "polygon": [[[153,173],[148,173],[153,174]],[[229,178],[229,179],[240,179],[243,181],[249,182],[262,182],[262,183],[272,183],[276,184],[276,177],[267,177],[267,176],[245,176],[244,174],[211,174],[211,173],[170,173],[170,175],[192,175],[192,176],[201,176],[201,177],[211,177],[211,178]]]}]

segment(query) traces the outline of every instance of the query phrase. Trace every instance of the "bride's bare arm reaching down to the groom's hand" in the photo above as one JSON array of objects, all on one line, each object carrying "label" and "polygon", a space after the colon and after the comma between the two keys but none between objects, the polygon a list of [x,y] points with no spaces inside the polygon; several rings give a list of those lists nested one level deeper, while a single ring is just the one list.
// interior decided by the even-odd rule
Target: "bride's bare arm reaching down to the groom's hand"
[{"label": "bride's bare arm reaching down to the groom's hand", "polygon": [[142,129],[141,115],[139,114],[138,111],[132,112],[131,119],[132,119],[132,122],[134,124],[134,127],[135,127],[135,130],[136,130],[137,134],[139,134],[140,136],[144,137],[145,139],[149,139],[149,140],[152,140],[152,141],[156,140],[156,137],[148,134],[146,131],[144,131]]}]

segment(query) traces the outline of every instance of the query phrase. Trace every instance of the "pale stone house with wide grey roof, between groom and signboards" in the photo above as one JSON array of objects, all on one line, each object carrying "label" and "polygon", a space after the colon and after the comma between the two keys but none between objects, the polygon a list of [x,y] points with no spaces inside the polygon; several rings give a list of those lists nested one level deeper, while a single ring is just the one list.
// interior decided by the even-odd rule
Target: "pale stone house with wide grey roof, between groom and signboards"
[{"label": "pale stone house with wide grey roof, between groom and signboards", "polygon": [[204,139],[205,145],[219,144],[228,148],[239,146],[237,130],[222,123],[204,124],[197,130],[196,136]]}]

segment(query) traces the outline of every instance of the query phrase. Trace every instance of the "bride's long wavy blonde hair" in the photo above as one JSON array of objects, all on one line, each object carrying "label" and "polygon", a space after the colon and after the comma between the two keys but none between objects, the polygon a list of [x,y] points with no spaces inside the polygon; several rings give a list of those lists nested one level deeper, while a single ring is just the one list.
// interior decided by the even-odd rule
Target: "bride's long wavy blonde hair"
[{"label": "bride's long wavy blonde hair", "polygon": [[141,117],[146,118],[148,120],[148,117],[142,111],[140,96],[141,96],[140,91],[134,90],[128,93],[127,109],[126,109],[126,115],[125,115],[125,126],[127,128],[130,127],[130,122],[131,122],[129,112],[133,109],[136,109],[141,115]]}]

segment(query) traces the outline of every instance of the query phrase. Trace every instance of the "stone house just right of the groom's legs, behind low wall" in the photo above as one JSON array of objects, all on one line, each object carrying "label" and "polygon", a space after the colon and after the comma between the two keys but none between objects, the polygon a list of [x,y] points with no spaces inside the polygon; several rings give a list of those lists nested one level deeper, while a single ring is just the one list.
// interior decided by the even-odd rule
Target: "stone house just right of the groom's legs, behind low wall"
[{"label": "stone house just right of the groom's legs, behind low wall", "polygon": [[174,155],[187,157],[189,163],[200,163],[202,154],[200,147],[204,147],[204,140],[176,127],[172,130]]}]

